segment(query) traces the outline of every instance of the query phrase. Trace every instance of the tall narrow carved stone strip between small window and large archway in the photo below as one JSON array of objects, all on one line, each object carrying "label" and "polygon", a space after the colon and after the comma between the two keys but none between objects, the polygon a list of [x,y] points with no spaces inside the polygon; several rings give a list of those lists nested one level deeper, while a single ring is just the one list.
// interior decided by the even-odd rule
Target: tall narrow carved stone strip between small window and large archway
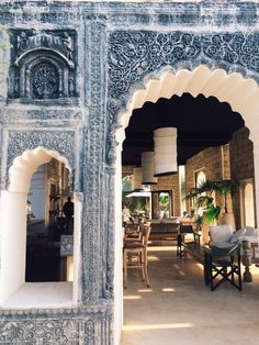
[{"label": "tall narrow carved stone strip between small window and large archway", "polygon": [[[89,299],[98,299],[103,294],[103,272],[99,271],[97,267],[101,265],[103,256],[99,253],[101,248],[101,238],[103,233],[103,214],[100,214],[101,202],[106,198],[102,186],[104,183],[104,154],[105,145],[105,97],[104,89],[100,85],[105,80],[104,74],[104,49],[105,42],[105,25],[101,22],[92,22],[88,26],[91,35],[89,36],[90,51],[90,113],[89,113],[89,130],[86,140],[86,170],[85,174],[88,179],[85,183],[83,193],[86,198],[86,216],[83,216],[83,227],[88,229],[85,233],[82,242],[83,246],[83,270],[82,270],[82,301],[87,303]],[[99,231],[98,231],[99,230]],[[106,243],[104,243],[106,249]],[[105,254],[106,255],[106,254]],[[106,267],[104,268],[105,271]]]}]

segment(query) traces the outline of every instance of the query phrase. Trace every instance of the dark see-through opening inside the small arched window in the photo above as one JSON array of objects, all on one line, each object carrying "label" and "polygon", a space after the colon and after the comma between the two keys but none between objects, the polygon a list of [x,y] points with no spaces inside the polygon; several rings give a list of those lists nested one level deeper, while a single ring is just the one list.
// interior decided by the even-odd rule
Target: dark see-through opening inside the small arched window
[{"label": "dark see-through opening inside the small arched window", "polygon": [[64,163],[52,158],[32,176],[27,194],[25,281],[72,281],[72,260],[68,259],[66,265],[59,255],[64,236],[74,233],[71,197],[70,171]]}]

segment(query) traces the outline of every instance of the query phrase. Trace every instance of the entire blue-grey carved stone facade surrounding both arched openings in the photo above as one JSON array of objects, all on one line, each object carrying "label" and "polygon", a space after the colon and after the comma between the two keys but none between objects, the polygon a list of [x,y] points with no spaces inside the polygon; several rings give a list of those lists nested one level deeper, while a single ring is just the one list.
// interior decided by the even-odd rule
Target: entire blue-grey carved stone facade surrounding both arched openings
[{"label": "entire blue-grey carved stone facade surrounding both arched openings", "polygon": [[78,305],[1,309],[0,344],[113,343],[120,114],[134,89],[165,69],[205,64],[258,81],[257,13],[259,4],[239,1],[217,7],[213,1],[1,1],[0,23],[9,26],[12,43],[10,55],[0,52],[8,66],[0,86],[9,85],[8,91],[0,88],[2,189],[13,159],[43,146],[69,160],[75,189],[85,198]]}]

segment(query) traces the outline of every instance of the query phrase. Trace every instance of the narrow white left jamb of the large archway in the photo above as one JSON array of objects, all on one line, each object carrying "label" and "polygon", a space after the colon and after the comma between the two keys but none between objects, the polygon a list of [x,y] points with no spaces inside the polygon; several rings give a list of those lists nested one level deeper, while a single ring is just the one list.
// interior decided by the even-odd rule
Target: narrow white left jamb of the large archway
[{"label": "narrow white left jamb of the large archway", "polygon": [[[124,131],[123,133],[124,134]],[[122,142],[116,146],[114,176],[114,344],[121,343],[123,326],[123,229],[122,229]]]}]

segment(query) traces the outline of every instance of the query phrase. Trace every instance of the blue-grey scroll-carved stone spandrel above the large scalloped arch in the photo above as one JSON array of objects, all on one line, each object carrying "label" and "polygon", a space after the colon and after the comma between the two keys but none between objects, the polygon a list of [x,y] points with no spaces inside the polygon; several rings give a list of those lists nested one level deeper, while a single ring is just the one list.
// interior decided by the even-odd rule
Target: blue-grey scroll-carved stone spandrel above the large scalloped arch
[{"label": "blue-grey scroll-carved stone spandrel above the large scalloped arch", "polygon": [[[180,63],[213,60],[215,65],[259,73],[259,34],[119,31],[110,35],[110,97],[117,99],[145,76]],[[234,65],[234,66],[233,66]],[[258,75],[257,75],[258,78]],[[110,105],[111,108],[111,105]]]}]

